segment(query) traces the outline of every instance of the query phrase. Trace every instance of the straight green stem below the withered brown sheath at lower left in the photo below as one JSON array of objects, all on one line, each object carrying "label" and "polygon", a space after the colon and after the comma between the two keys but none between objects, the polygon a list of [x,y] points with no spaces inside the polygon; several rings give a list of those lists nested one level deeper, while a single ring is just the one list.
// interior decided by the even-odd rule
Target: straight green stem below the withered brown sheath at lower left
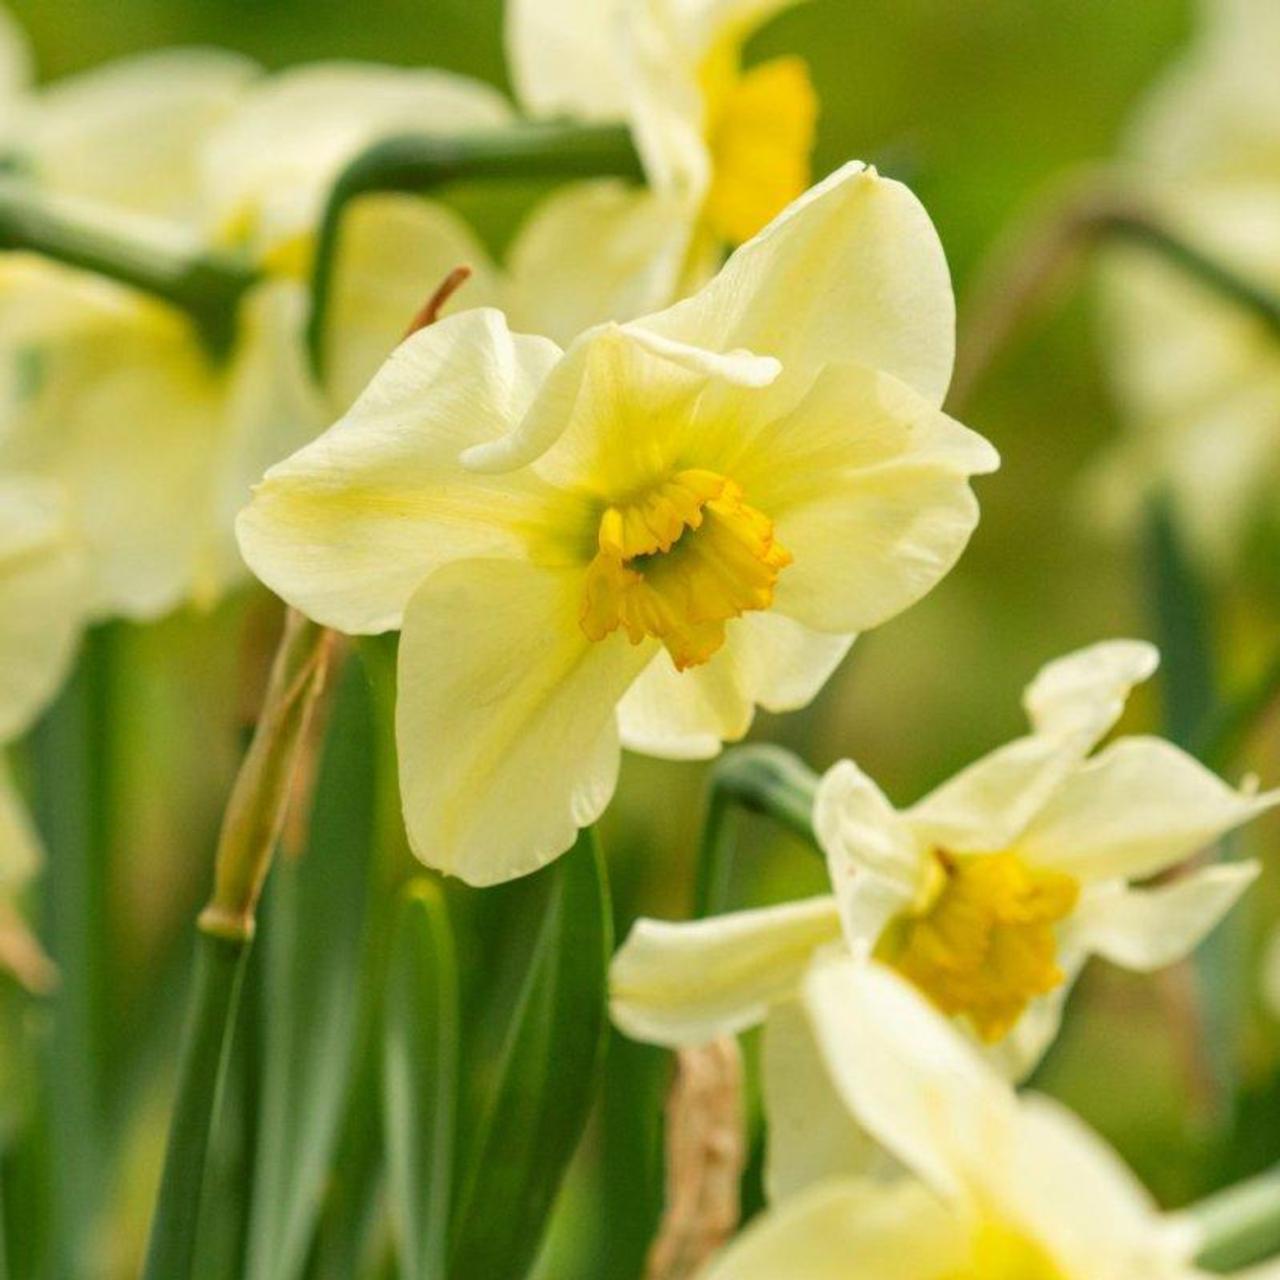
[{"label": "straight green stem below the withered brown sheath at lower left", "polygon": [[246,940],[200,934],[191,1019],[143,1280],[187,1280],[193,1274],[209,1138],[248,946]]}]

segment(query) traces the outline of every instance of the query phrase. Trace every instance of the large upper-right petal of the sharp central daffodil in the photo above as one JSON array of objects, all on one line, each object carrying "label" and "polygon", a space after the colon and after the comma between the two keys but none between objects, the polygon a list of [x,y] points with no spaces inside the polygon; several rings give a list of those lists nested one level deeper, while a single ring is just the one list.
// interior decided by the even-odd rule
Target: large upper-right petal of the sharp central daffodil
[{"label": "large upper-right petal of the sharp central daffodil", "polygon": [[685,302],[641,324],[692,346],[785,365],[855,361],[942,403],[955,298],[915,196],[849,164],[795,201]]}]

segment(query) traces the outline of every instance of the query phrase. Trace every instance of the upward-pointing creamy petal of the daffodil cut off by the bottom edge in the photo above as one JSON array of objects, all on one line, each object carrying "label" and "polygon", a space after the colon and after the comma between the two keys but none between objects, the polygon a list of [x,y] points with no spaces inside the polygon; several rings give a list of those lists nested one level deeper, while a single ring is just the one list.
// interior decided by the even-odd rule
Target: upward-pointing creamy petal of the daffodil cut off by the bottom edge
[{"label": "upward-pointing creamy petal of the daffodil cut off by the bottom edge", "polygon": [[1012,1089],[924,997],[874,961],[815,965],[804,1002],[855,1117],[940,1194],[963,1197],[1010,1124]]}]

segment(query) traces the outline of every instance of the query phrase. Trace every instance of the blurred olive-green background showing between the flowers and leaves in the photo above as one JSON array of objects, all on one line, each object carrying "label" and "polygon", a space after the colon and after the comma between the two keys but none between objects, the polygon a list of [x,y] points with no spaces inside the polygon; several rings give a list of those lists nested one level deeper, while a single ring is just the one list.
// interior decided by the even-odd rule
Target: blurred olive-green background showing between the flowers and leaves
[{"label": "blurred olive-green background showing between the flowers and leaves", "polygon": [[[31,33],[41,78],[148,47],[218,44],[270,68],[364,58],[506,84],[500,0],[10,3]],[[1193,18],[1183,0],[813,0],[772,23],[750,52],[797,51],[809,60],[822,100],[819,175],[861,157],[920,195],[950,255],[963,316],[966,287],[1009,224],[1064,173],[1115,154]],[[481,228],[498,246],[521,209],[521,193],[508,195],[509,209],[486,211]],[[457,200],[471,207],[466,192]],[[1117,430],[1088,282],[1019,337],[964,420],[995,442],[1004,468],[977,486],[983,518],[959,568],[923,604],[859,641],[812,709],[762,717],[755,731],[818,769],[851,756],[900,804],[1020,732],[1021,687],[1044,660],[1105,636],[1155,639],[1140,548],[1107,541],[1082,518],[1082,470]],[[1268,586],[1265,575],[1212,586],[1226,687],[1271,652],[1280,609]],[[128,750],[120,758],[129,762],[114,803],[128,815],[119,827],[131,840],[110,870],[109,941],[118,956],[110,1007],[124,1027],[157,987],[180,1006],[174,940],[186,936],[207,884],[211,832],[237,758],[237,713],[248,696],[239,689],[239,646],[253,634],[246,620],[256,608],[247,596],[212,616],[186,612],[157,627],[114,628],[125,672],[118,732]],[[1158,689],[1139,691],[1125,727],[1157,730],[1157,704]],[[1276,781],[1272,736],[1254,736],[1233,765],[1236,776],[1256,769]],[[641,911],[687,914],[704,778],[701,767],[627,759],[603,827],[620,928]],[[822,890],[812,854],[764,824],[745,824],[744,836],[737,901]],[[1245,838],[1251,851],[1267,854],[1277,836],[1270,822]],[[1184,1034],[1185,974],[1140,980],[1096,963],[1038,1078],[1107,1134],[1169,1204],[1258,1167],[1268,1157],[1266,1132],[1280,1126],[1280,1029],[1258,995],[1275,881],[1268,872],[1221,947],[1242,1018],[1231,1043],[1211,1048],[1238,1053],[1245,1087],[1226,1155],[1207,1137],[1212,1100],[1197,1061],[1202,1047],[1189,1047]],[[172,954],[178,959],[161,960]],[[164,980],[161,964],[173,966]],[[122,1267],[150,1203],[164,1079],[161,1070],[148,1083],[132,1139],[136,1167],[119,1176],[119,1197],[132,1204],[120,1211],[129,1225],[114,1245]],[[589,1144],[582,1161],[567,1198],[577,1207],[557,1229],[561,1257],[575,1263],[556,1275],[607,1275],[609,1249],[626,1247],[621,1225],[607,1216],[611,1196],[602,1202],[594,1190],[602,1176],[618,1190],[608,1170],[600,1174],[607,1153]],[[584,1226],[588,1219],[594,1225]]]}]

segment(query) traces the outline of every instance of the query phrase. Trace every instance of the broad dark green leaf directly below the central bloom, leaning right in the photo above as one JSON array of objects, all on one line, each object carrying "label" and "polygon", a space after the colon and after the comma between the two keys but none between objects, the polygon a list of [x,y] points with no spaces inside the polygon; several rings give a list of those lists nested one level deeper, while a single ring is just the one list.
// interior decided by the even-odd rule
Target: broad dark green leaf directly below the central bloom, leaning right
[{"label": "broad dark green leaf directly below the central bloom, leaning right", "polygon": [[529,1272],[603,1066],[612,919],[594,832],[550,882],[527,977],[454,1217],[454,1280]]}]

